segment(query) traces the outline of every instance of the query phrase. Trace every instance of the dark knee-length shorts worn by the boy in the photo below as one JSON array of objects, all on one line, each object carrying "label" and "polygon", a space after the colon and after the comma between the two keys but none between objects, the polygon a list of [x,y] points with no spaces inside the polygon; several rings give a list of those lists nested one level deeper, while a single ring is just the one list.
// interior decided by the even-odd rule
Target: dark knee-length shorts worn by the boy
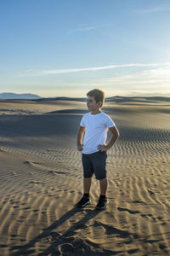
[{"label": "dark knee-length shorts worn by the boy", "polygon": [[105,162],[106,151],[97,151],[92,154],[82,154],[83,177],[93,177],[103,179],[106,177]]}]

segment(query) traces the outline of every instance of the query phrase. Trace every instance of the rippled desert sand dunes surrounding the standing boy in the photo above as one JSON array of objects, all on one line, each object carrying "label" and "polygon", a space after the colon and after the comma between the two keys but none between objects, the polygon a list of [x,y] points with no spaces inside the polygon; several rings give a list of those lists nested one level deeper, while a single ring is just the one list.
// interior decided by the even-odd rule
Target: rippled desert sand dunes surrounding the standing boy
[{"label": "rippled desert sand dunes surrounding the standing boy", "polygon": [[[121,98],[102,111],[120,137],[107,151],[107,197],[82,198],[81,101],[0,101],[0,255],[170,255],[170,102]],[[107,142],[111,138],[108,131]]]}]

